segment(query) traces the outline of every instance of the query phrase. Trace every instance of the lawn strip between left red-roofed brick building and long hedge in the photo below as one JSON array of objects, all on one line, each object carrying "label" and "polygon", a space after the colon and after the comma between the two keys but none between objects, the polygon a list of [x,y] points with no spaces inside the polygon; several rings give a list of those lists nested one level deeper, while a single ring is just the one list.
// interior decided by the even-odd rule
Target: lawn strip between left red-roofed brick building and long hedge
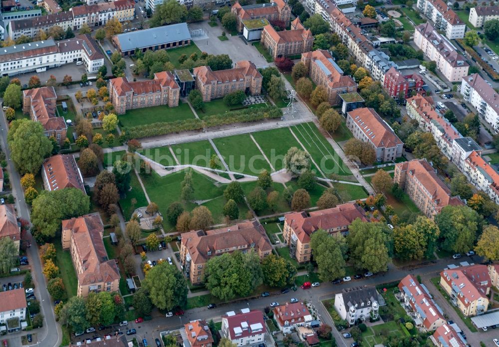
[{"label": "lawn strip between left red-roofed brick building and long hedge", "polygon": [[169,107],[167,105],[148,107],[147,111],[143,108],[136,108],[118,116],[120,124],[124,127],[173,122],[191,118],[195,118],[191,107],[189,107],[189,104],[182,102],[179,102],[177,107]]}]

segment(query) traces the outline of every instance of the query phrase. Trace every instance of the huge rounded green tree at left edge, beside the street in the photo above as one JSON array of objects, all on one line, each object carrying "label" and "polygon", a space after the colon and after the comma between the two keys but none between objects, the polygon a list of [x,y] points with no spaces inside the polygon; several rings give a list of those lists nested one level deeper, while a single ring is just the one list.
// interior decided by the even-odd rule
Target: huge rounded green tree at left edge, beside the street
[{"label": "huge rounded green tree at left edge, beside the street", "polygon": [[39,122],[19,119],[10,123],[7,134],[10,158],[21,174],[37,173],[45,156],[52,152],[52,143],[43,132]]}]

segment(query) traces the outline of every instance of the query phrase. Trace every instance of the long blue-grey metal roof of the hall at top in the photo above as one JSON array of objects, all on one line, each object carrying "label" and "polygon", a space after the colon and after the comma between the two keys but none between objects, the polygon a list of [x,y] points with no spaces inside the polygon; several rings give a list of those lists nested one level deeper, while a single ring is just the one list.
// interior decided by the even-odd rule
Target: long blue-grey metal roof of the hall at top
[{"label": "long blue-grey metal roof of the hall at top", "polygon": [[131,31],[116,35],[122,51],[151,47],[163,43],[191,39],[186,23],[178,23],[155,28]]}]

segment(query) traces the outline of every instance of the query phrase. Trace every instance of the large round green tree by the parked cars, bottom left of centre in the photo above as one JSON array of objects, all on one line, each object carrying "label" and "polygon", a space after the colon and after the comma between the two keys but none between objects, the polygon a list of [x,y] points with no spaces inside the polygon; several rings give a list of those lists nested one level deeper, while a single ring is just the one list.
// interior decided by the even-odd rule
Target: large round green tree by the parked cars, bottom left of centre
[{"label": "large round green tree by the parked cars, bottom left of centre", "polygon": [[[215,257],[217,258],[217,257]],[[153,267],[142,281],[142,287],[149,293],[149,299],[160,310],[184,307],[187,302],[187,281],[176,266],[167,262]]]}]

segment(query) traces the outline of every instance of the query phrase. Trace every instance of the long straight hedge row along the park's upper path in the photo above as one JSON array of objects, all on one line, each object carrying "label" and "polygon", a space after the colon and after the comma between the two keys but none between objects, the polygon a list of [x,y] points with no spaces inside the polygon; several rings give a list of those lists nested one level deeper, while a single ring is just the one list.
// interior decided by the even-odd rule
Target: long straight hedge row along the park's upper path
[{"label": "long straight hedge row along the park's upper path", "polygon": [[182,131],[201,130],[214,126],[233,123],[254,122],[262,119],[279,118],[282,111],[277,106],[266,106],[261,108],[245,108],[239,111],[207,116],[204,119],[185,119],[174,122],[158,122],[152,124],[123,127],[126,139],[137,139],[143,137],[167,135]]}]

